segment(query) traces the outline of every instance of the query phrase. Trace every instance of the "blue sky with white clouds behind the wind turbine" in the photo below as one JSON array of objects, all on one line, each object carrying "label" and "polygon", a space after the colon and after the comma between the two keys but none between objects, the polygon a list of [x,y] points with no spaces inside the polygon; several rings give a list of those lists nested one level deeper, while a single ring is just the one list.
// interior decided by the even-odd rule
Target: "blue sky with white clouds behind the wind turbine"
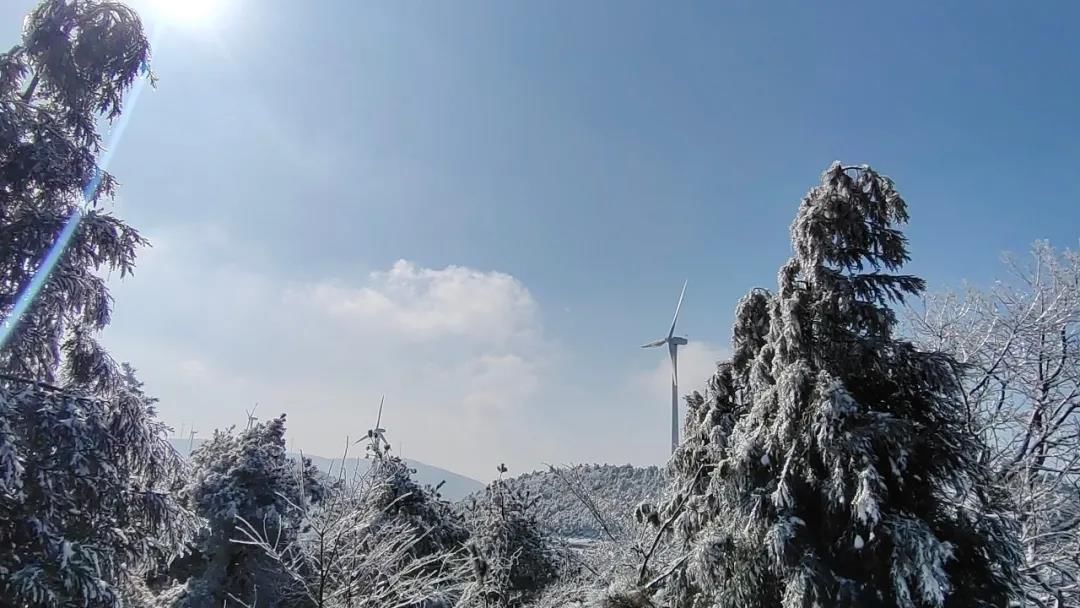
[{"label": "blue sky with white clouds behind the wind turbine", "polygon": [[160,30],[110,167],[156,246],[107,339],[176,427],[257,401],[332,456],[384,392],[481,478],[661,462],[637,346],[689,279],[700,384],[833,160],[896,180],[931,288],[1077,243],[1071,2],[220,1]]}]

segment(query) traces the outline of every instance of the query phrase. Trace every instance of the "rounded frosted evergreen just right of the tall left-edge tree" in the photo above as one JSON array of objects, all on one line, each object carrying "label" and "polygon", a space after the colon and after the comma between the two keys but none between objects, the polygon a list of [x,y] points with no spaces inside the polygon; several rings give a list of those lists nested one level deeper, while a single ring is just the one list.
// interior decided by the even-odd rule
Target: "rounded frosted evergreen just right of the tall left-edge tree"
[{"label": "rounded frosted evergreen just right of the tall left-edge tree", "polygon": [[[282,542],[300,528],[292,504],[318,502],[325,488],[310,462],[298,468],[285,452],[285,416],[242,433],[217,431],[191,455],[184,497],[205,519],[189,560],[184,605],[275,606],[287,580],[278,565],[251,546],[234,542],[247,522]],[[299,473],[302,471],[302,473]]]}]

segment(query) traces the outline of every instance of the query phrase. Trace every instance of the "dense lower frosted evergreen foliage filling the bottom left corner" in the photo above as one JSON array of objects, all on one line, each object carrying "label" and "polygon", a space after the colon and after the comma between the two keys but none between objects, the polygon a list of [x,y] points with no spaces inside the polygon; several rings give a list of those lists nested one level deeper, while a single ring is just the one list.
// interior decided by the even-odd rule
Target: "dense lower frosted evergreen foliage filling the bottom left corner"
[{"label": "dense lower frosted evergreen foliage filling the bottom left corner", "polygon": [[0,379],[0,606],[113,607],[179,552],[183,461],[124,366],[108,397]]}]

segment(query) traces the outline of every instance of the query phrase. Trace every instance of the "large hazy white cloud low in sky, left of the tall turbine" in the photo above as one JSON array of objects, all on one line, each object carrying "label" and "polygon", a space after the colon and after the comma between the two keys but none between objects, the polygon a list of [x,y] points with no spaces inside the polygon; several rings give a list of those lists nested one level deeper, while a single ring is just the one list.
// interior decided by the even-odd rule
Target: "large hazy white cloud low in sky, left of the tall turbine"
[{"label": "large hazy white cloud low in sky, left of the tall turbine", "polygon": [[[332,456],[387,394],[391,438],[410,457],[490,476],[517,452],[555,349],[518,280],[400,260],[357,278],[283,282],[233,264],[214,228],[151,234],[138,273],[113,285],[106,340],[132,361],[175,427],[242,424],[286,411],[289,435]],[[519,449],[515,449],[519,448]]]}]

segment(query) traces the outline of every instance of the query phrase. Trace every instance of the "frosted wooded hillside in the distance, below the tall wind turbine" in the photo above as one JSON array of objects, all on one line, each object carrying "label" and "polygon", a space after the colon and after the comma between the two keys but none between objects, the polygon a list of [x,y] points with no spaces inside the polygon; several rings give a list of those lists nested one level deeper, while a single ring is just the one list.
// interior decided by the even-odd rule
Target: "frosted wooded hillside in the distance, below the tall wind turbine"
[{"label": "frosted wooded hillside in the distance, below the tall wind turbine", "polygon": [[536,499],[537,518],[549,531],[565,538],[599,539],[604,530],[589,509],[567,487],[580,487],[611,523],[625,521],[645,500],[653,501],[666,487],[666,473],[659,467],[630,464],[578,464],[551,471],[525,473],[509,479],[515,488]]}]

